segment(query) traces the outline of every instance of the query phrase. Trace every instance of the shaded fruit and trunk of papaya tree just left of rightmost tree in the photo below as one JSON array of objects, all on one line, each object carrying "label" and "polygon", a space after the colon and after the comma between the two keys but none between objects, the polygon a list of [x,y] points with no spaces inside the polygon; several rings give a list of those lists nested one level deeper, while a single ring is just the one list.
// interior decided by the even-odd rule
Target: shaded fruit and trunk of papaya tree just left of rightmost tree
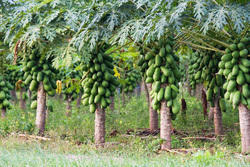
[{"label": "shaded fruit and trunk of papaya tree just left of rightmost tree", "polygon": [[206,98],[214,115],[215,135],[223,134],[222,112],[226,110],[223,83],[224,77],[219,72],[220,56],[211,51],[196,52],[190,61],[190,83],[192,87],[202,83],[207,89]]}]

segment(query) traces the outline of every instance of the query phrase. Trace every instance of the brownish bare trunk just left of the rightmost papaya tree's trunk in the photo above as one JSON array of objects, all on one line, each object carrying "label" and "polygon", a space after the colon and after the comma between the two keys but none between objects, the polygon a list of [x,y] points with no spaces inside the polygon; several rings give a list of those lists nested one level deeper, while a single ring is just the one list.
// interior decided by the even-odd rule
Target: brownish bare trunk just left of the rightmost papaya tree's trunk
[{"label": "brownish bare trunk just left of the rightmost papaya tree's trunk", "polygon": [[213,108],[213,113],[214,113],[214,132],[215,135],[219,136],[223,134],[223,126],[222,126],[222,112],[220,110],[218,97],[215,97],[215,106]]}]

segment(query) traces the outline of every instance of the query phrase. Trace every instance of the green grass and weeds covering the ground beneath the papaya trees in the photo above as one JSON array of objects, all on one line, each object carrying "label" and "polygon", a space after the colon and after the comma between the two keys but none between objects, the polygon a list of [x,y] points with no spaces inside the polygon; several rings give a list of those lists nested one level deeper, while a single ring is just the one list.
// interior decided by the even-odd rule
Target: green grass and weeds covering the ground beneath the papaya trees
[{"label": "green grass and weeds covering the ground beneath the papaya trees", "polygon": [[[177,131],[188,136],[206,136],[213,133],[213,124],[203,119],[200,102],[185,95],[187,101],[186,121],[181,114],[173,121]],[[65,115],[65,104],[53,98],[46,125],[46,137],[51,141],[37,141],[11,135],[35,134],[35,111],[21,111],[14,107],[7,119],[0,121],[0,166],[249,166],[244,156],[239,156],[240,133],[238,113],[223,113],[225,136],[215,141],[185,140],[172,135],[174,149],[192,149],[187,154],[159,152],[159,135],[142,138],[138,135],[124,136],[127,130],[148,128],[148,109],[145,96],[131,97],[126,106],[115,101],[115,111],[106,112],[105,148],[95,148],[94,114],[88,108],[76,108],[73,104],[71,117]],[[116,136],[110,135],[114,130]],[[133,133],[132,133],[133,134]]]}]

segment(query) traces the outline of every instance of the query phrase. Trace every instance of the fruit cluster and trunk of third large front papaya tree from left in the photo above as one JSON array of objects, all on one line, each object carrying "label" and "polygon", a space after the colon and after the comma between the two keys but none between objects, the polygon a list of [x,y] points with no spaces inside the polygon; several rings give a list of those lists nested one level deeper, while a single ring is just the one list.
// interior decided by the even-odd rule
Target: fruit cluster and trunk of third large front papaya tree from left
[{"label": "fruit cluster and trunk of third large front papaya tree from left", "polygon": [[[179,58],[173,52],[173,37],[162,37],[159,41],[147,46],[144,63],[146,68],[146,83],[152,83],[150,96],[152,107],[161,115],[160,136],[165,140],[162,149],[171,149],[171,115],[179,112],[176,100],[178,94],[178,71]],[[149,49],[151,48],[151,49]],[[146,66],[146,65],[145,65]]]}]

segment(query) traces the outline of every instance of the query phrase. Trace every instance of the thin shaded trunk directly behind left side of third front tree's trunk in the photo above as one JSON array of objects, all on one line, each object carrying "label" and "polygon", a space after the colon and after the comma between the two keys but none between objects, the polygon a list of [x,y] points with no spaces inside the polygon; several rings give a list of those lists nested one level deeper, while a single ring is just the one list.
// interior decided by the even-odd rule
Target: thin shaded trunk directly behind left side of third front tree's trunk
[{"label": "thin shaded trunk directly behind left side of third front tree's trunk", "polygon": [[158,113],[152,107],[152,98],[149,96],[148,91],[152,90],[152,84],[147,84],[146,87],[147,98],[149,99],[149,129],[151,132],[158,130]]}]

